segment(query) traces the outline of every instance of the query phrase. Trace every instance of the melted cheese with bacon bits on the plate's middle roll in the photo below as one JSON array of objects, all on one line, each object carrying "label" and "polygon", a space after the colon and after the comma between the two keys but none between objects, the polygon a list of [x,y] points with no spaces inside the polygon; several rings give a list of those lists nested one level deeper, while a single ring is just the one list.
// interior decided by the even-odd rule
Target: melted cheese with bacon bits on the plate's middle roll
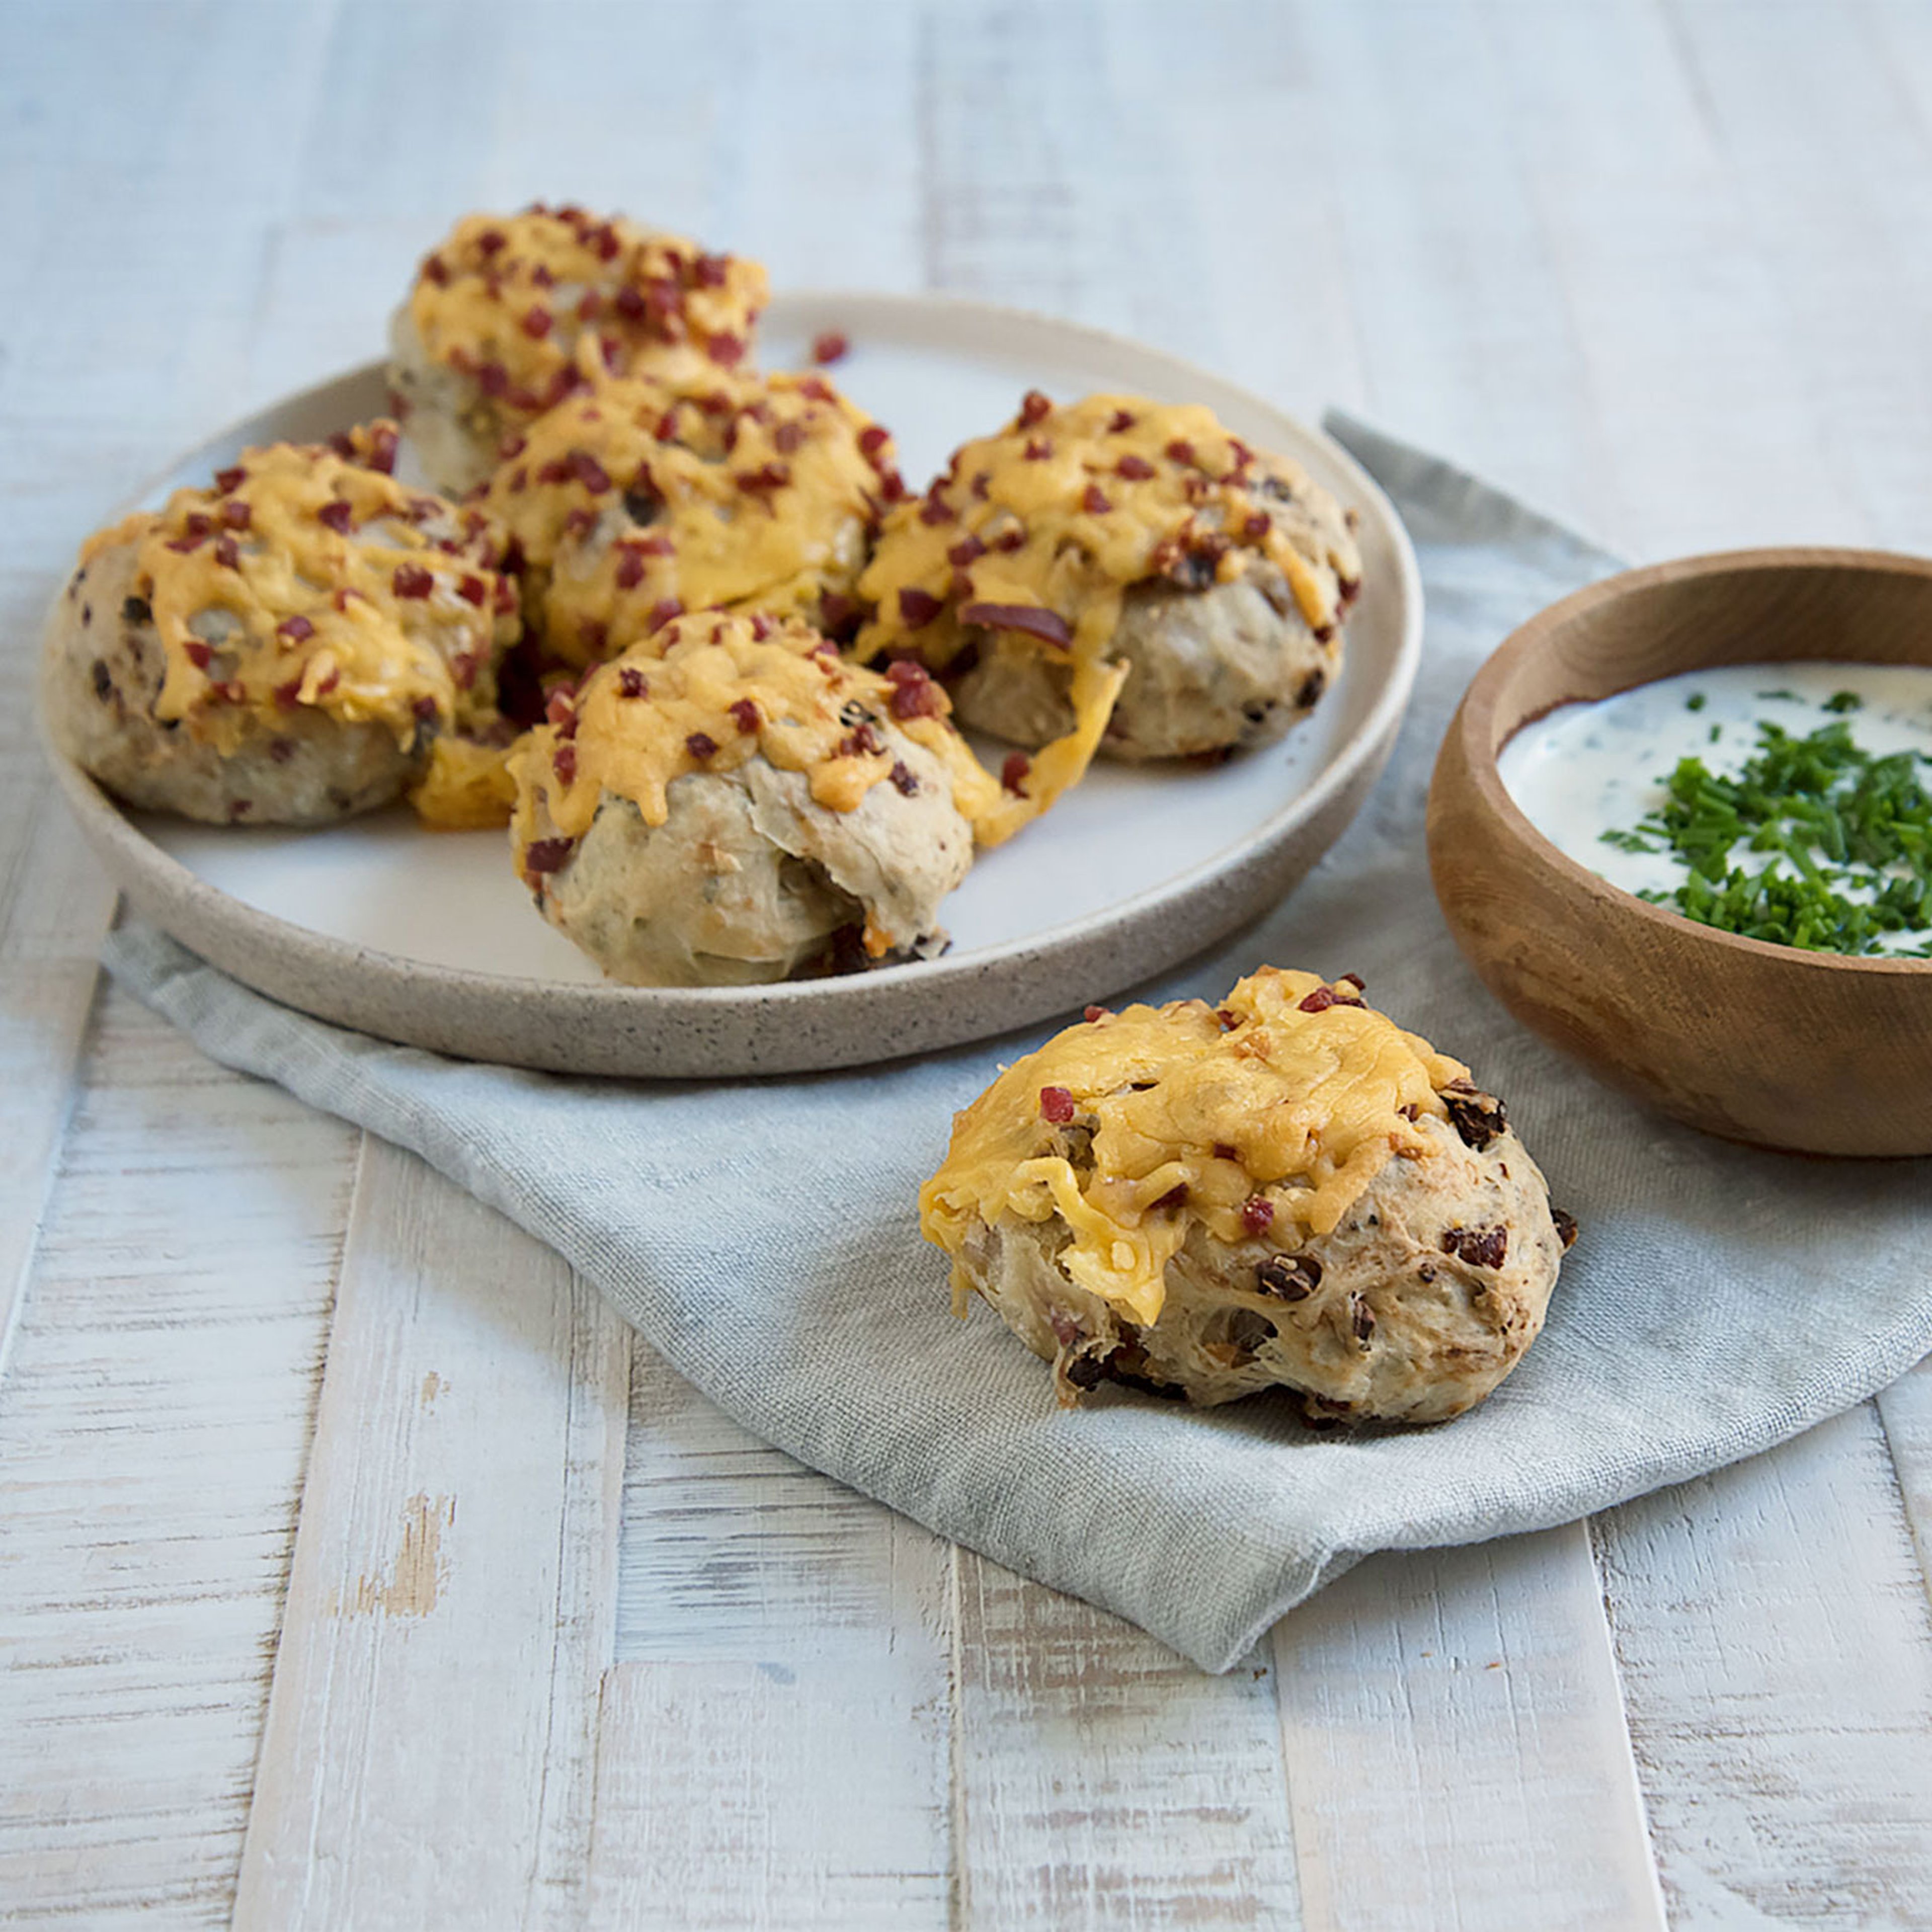
[{"label": "melted cheese with bacon bits on the plate's middle roll", "polygon": [[553,657],[597,663],[682,611],[825,618],[850,593],[893,440],[819,375],[612,379],[512,439],[485,506]]}]

